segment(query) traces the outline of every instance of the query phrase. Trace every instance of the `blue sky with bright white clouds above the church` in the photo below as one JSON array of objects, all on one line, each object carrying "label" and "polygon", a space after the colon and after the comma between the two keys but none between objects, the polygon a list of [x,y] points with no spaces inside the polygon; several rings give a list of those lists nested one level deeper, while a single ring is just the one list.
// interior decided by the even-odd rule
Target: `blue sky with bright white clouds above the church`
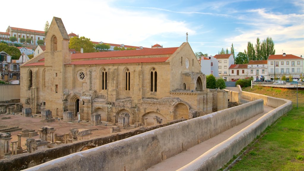
[{"label": "blue sky with bright white clouds above the church", "polygon": [[67,33],[97,42],[179,47],[188,33],[193,52],[214,56],[232,43],[237,55],[248,41],[271,37],[275,54],[304,56],[304,0],[15,0],[16,11],[9,1],[1,4],[9,15],[1,17],[0,32],[8,26],[43,31],[56,16]]}]

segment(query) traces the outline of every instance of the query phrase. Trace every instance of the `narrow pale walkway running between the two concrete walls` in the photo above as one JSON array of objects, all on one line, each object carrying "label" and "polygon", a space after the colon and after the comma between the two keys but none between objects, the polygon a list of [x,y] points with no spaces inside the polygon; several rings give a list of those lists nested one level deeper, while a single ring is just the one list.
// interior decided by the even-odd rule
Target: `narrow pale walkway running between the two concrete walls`
[{"label": "narrow pale walkway running between the two concrete walls", "polygon": [[183,151],[179,153],[178,155],[175,155],[169,159],[166,159],[157,165],[154,165],[150,168],[148,168],[148,171],[173,171],[180,169],[181,167],[187,165],[188,163],[192,162],[214,146],[220,144],[221,142],[225,141],[226,139],[230,138],[233,134],[236,134],[238,131],[242,130],[243,128],[247,127],[251,123],[253,123],[255,120],[263,116],[265,113],[268,113],[269,111],[273,110],[273,107],[264,106],[264,112],[260,113],[249,120],[245,121],[244,123],[237,125],[213,138],[210,138],[207,141],[204,141],[198,145],[195,145],[192,148],[189,148],[186,151]]}]

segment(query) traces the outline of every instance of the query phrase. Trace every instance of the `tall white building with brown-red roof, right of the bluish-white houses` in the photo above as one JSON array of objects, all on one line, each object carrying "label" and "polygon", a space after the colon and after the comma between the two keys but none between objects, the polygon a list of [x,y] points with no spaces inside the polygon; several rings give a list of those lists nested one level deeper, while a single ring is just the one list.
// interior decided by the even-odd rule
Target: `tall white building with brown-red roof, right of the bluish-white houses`
[{"label": "tall white building with brown-red roof, right of the bluish-white houses", "polygon": [[228,80],[229,67],[234,64],[233,54],[217,54],[214,55],[219,61],[219,76],[222,76],[224,80]]}]

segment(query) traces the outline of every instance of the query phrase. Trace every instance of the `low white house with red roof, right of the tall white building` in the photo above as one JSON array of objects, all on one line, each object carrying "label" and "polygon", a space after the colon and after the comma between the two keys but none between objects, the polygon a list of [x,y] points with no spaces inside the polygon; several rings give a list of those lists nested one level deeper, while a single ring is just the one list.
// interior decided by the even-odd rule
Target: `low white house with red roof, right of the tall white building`
[{"label": "low white house with red roof, right of the tall white building", "polygon": [[245,79],[248,77],[247,64],[232,64],[229,67],[229,81]]}]

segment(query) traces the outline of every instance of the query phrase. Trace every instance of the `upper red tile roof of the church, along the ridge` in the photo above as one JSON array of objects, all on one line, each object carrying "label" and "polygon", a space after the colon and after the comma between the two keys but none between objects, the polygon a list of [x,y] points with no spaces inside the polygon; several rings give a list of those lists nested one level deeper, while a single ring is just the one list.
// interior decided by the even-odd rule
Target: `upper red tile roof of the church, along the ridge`
[{"label": "upper red tile roof of the church, along the ridge", "polygon": [[158,49],[143,49],[130,51],[109,51],[109,52],[92,52],[72,54],[72,59],[86,59],[86,58],[110,58],[110,57],[127,57],[127,56],[147,56],[147,55],[165,55],[173,54],[178,47],[158,48]]}]

